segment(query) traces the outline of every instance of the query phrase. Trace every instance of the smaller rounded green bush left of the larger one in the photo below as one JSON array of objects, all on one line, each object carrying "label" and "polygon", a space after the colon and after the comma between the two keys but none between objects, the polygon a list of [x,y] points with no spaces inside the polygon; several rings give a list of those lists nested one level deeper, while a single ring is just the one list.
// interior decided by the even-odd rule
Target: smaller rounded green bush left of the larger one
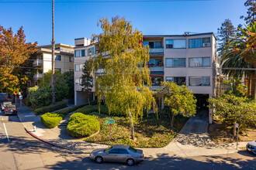
[{"label": "smaller rounded green bush left of the larger one", "polygon": [[41,122],[47,128],[54,128],[60,123],[63,117],[63,114],[47,113],[41,116]]}]

